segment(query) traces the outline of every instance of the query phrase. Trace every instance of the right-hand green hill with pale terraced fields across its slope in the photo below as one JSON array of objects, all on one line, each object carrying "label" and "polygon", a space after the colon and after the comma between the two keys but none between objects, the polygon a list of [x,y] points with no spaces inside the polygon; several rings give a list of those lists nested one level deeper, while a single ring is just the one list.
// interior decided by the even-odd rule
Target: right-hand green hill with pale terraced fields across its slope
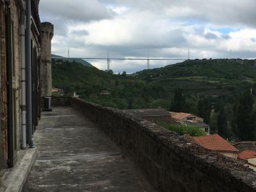
[{"label": "right-hand green hill with pale terraced fields across its slope", "polygon": [[188,60],[143,70],[136,77],[161,84],[169,93],[181,88],[188,94],[236,95],[254,87],[256,67],[254,60]]}]

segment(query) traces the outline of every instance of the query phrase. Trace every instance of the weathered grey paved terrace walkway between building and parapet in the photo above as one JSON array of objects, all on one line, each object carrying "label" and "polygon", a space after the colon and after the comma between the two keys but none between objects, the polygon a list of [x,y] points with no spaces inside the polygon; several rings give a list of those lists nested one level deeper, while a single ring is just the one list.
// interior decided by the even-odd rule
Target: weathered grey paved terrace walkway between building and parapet
[{"label": "weathered grey paved terrace walkway between building and parapet", "polygon": [[120,149],[72,108],[42,113],[23,191],[145,191]]}]

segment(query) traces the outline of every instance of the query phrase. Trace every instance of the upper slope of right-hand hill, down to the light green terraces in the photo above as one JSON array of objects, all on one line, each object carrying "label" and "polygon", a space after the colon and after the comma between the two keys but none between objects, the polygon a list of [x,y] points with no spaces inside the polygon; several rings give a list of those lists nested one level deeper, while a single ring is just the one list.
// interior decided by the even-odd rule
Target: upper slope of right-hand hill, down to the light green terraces
[{"label": "upper slope of right-hand hill, down to the light green terraces", "polygon": [[[241,64],[243,63],[243,64]],[[256,79],[254,60],[187,60],[163,68],[137,72],[140,77],[153,79]]]}]

